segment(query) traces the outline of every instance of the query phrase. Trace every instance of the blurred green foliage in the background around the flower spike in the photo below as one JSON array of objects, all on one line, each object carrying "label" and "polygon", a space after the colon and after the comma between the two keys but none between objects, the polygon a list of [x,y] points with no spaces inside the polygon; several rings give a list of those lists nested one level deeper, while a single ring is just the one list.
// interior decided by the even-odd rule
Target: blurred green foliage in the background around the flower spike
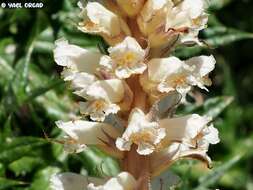
[{"label": "blurred green foliage in the background around the flower spike", "polygon": [[[180,161],[172,171],[180,190],[253,190],[253,1],[209,0],[209,28],[201,38],[206,48],[179,47],[180,58],[214,54],[217,67],[203,104],[181,107],[177,114],[213,116],[221,143],[210,147],[214,168]],[[118,162],[90,147],[66,155],[54,122],[78,114],[77,97],[59,77],[53,60],[54,41],[65,37],[85,48],[101,39],[76,29],[75,0],[44,0],[42,9],[0,8],[0,190],[46,190],[51,174],[72,171],[113,176]],[[227,108],[227,106],[229,106]]]}]

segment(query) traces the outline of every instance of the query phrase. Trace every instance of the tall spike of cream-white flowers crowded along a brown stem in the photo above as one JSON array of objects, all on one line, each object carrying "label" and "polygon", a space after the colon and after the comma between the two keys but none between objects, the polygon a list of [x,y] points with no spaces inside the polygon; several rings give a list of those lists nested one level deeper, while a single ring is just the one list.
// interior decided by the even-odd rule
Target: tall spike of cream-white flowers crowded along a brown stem
[{"label": "tall spike of cream-white flowers crowded along a brown stem", "polygon": [[[83,99],[81,115],[90,119],[56,124],[66,134],[67,152],[96,145],[116,156],[125,172],[108,181],[59,174],[51,179],[52,188],[146,190],[150,179],[143,180],[141,172],[130,169],[135,159],[148,160],[149,167],[143,168],[148,178],[182,158],[210,165],[208,146],[219,142],[212,118],[159,114],[164,97],[180,97],[166,109],[172,110],[186,102],[193,87],[208,90],[211,85],[212,55],[180,60],[169,54],[178,45],[201,45],[198,33],[208,20],[204,0],[107,0],[78,5],[78,29],[102,36],[110,47],[105,55],[64,39],[56,41],[55,61],[64,67],[64,80]],[[112,115],[122,121],[121,128],[107,121]]]}]

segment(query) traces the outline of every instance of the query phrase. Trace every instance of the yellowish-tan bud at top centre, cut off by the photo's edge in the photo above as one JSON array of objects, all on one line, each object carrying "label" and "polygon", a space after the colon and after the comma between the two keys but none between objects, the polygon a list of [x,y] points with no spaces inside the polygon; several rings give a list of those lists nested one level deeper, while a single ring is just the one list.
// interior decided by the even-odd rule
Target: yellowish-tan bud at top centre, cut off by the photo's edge
[{"label": "yellowish-tan bud at top centre, cut off by the photo's edge", "polygon": [[136,16],[144,5],[145,0],[117,0],[118,6],[130,17]]}]

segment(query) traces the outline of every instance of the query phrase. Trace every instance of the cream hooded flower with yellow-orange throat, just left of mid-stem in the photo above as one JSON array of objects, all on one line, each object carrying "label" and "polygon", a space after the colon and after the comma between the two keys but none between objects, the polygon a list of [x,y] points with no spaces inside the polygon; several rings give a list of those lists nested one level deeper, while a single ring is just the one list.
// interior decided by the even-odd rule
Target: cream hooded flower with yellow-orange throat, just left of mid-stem
[{"label": "cream hooded flower with yellow-orange throat, just left of mid-stem", "polygon": [[80,111],[90,115],[94,121],[103,121],[110,113],[117,113],[117,105],[124,98],[124,84],[119,79],[96,81],[84,91],[76,92],[86,98],[87,102],[80,103]]}]

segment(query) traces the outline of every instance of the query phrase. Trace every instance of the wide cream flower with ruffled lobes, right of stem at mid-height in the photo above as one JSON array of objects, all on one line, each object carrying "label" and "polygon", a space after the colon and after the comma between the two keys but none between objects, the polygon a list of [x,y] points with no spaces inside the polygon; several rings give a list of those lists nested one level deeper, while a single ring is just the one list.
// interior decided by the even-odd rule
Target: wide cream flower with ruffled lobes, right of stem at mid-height
[{"label": "wide cream flower with ruffled lobes, right of stem at mid-height", "polygon": [[140,82],[146,92],[177,91],[185,97],[192,86],[207,90],[205,85],[211,85],[208,74],[214,65],[213,56],[194,57],[186,61],[176,57],[152,59]]}]

